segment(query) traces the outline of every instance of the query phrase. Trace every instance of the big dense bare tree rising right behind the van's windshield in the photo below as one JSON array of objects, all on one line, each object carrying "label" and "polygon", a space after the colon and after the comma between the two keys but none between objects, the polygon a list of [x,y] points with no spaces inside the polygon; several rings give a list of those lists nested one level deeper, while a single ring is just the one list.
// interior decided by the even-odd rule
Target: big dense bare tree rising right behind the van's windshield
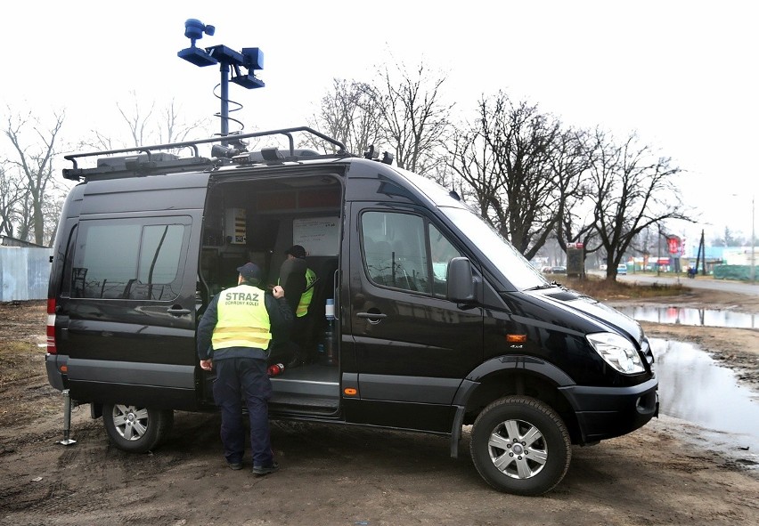
[{"label": "big dense bare tree rising right behind the van's windshield", "polygon": [[586,133],[563,130],[557,119],[504,93],[483,98],[477,122],[455,129],[446,143],[446,163],[504,238],[527,258],[548,239],[581,238],[592,221],[579,222],[588,166]]}]

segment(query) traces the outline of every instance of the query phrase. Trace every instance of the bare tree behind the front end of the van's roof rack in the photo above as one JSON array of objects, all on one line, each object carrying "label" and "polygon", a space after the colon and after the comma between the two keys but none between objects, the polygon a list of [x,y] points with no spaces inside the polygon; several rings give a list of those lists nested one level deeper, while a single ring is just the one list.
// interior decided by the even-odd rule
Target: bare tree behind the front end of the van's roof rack
[{"label": "bare tree behind the front end of the van's roof rack", "polygon": [[[319,112],[309,119],[309,125],[346,145],[357,155],[381,142],[380,114],[371,103],[371,86],[357,81],[335,78],[332,90],[322,97]],[[309,136],[308,146],[334,151],[335,146]]]}]

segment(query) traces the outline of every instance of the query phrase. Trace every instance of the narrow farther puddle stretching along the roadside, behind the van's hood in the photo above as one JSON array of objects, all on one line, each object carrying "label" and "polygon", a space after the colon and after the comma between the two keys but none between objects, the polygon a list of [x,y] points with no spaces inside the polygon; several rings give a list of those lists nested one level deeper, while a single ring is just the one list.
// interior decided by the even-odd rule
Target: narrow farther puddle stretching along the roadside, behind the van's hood
[{"label": "narrow farther puddle stretching along the roadside, behind the van's hood", "polygon": [[759,328],[759,315],[729,310],[684,307],[615,307],[634,320],[704,327]]}]

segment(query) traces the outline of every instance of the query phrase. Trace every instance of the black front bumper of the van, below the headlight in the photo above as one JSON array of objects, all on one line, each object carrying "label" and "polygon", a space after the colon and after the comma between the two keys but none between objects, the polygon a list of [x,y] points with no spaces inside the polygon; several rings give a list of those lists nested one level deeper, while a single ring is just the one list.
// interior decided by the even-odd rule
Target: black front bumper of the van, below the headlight
[{"label": "black front bumper of the van, below the headlight", "polygon": [[630,387],[570,385],[560,391],[572,404],[583,443],[621,436],[659,414],[658,379]]}]

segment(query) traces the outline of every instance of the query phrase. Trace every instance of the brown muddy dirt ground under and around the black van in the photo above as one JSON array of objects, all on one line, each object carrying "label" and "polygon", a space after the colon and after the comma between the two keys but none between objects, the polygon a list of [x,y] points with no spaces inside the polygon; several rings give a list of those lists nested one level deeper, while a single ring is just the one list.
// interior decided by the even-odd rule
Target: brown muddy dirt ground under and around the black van
[{"label": "brown muddy dirt ground under and around the black van", "polygon": [[[646,300],[655,302],[759,312],[759,298],[706,291]],[[759,392],[756,330],[644,328],[713,352]],[[672,417],[576,447],[564,481],[539,498],[490,489],[467,432],[453,460],[437,436],[273,422],[282,470],[255,478],[226,467],[216,414],[178,412],[167,443],[135,455],[110,446],[83,406],[72,418],[77,443],[62,446],[44,343],[44,302],[0,303],[0,525],[759,523],[755,463],[708,448],[702,430]]]}]

